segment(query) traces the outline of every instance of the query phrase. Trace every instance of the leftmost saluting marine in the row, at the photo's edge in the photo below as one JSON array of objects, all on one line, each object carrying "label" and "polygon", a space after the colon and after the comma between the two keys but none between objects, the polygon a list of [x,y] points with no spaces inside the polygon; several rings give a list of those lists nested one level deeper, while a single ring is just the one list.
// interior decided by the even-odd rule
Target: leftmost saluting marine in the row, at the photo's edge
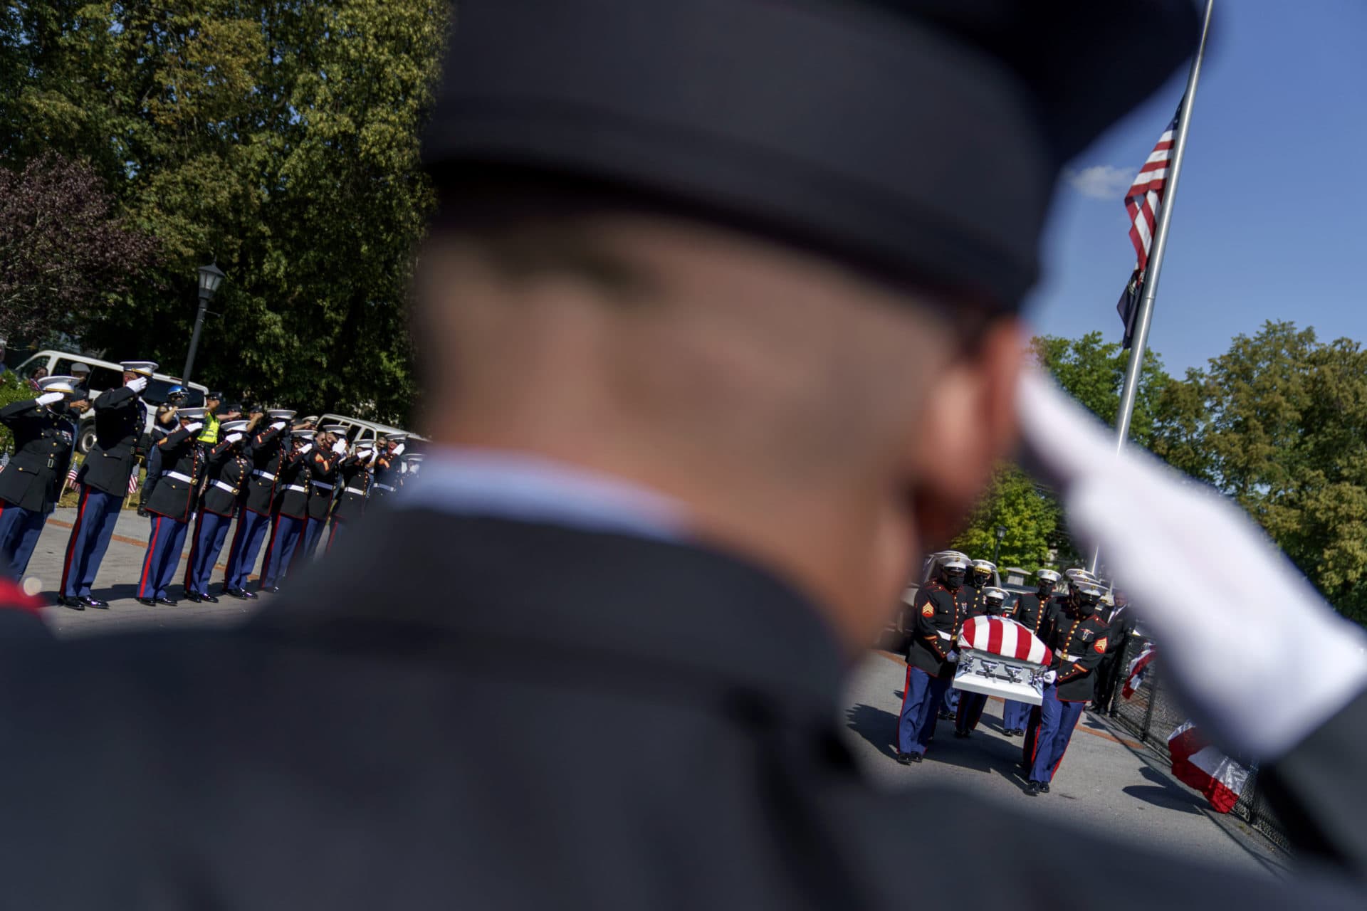
[{"label": "leftmost saluting marine in the row, at the photo's edge", "polygon": [[75,378],[44,377],[37,385],[38,397],[0,408],[0,423],[14,434],[14,458],[0,470],[0,552],[16,580],[56,508],[75,451],[77,423],[68,406]]}]

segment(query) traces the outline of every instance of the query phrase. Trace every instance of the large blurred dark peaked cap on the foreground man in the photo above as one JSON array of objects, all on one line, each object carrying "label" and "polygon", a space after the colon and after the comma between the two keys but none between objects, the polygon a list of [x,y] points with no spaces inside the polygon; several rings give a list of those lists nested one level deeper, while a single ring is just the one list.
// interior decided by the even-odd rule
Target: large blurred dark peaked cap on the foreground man
[{"label": "large blurred dark peaked cap on the foreground man", "polygon": [[1013,310],[1064,163],[1196,36],[1189,0],[463,0],[424,163],[606,180]]}]

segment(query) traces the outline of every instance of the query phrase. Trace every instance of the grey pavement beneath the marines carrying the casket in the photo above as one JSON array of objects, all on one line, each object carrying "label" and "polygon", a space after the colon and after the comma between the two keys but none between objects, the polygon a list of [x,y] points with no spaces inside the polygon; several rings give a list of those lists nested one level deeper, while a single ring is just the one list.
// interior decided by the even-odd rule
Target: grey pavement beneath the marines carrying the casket
[{"label": "grey pavement beneath the marines carrying the casket", "polygon": [[[1050,794],[1031,798],[1016,763],[1021,738],[1001,733],[1002,702],[991,699],[973,736],[954,738],[954,724],[940,721],[935,743],[920,765],[894,758],[906,665],[886,651],[869,653],[850,680],[846,725],[850,743],[869,773],[887,787],[945,785],[999,800],[1048,824],[1068,821],[1098,835],[1178,854],[1187,859],[1228,865],[1269,875],[1289,858],[1239,819],[1210,809],[1206,799],[1180,784],[1156,754],[1122,729],[1085,713],[1073,733]],[[1110,858],[1125,870],[1125,859]]]}]

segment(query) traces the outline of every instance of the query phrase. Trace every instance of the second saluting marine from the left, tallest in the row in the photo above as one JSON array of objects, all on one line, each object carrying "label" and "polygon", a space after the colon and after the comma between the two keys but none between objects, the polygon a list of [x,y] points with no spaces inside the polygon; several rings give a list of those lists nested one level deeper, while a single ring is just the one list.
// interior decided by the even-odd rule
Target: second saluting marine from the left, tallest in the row
[{"label": "second saluting marine from the left, tallest in the row", "polygon": [[109,606],[90,594],[90,586],[128,496],[128,479],[138,470],[135,449],[148,415],[138,396],[157,369],[152,361],[124,361],[120,366],[123,385],[105,389],[94,400],[94,447],[77,475],[81,500],[62,564],[57,602],[78,611]]}]

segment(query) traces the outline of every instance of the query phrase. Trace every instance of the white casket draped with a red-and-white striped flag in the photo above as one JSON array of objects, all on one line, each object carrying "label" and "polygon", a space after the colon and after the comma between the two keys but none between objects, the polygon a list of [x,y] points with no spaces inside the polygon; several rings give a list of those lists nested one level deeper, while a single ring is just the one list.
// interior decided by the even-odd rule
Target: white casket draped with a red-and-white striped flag
[{"label": "white casket draped with a red-and-white striped flag", "polygon": [[1029,630],[1003,617],[973,617],[958,632],[954,688],[1039,705],[1054,660]]}]

